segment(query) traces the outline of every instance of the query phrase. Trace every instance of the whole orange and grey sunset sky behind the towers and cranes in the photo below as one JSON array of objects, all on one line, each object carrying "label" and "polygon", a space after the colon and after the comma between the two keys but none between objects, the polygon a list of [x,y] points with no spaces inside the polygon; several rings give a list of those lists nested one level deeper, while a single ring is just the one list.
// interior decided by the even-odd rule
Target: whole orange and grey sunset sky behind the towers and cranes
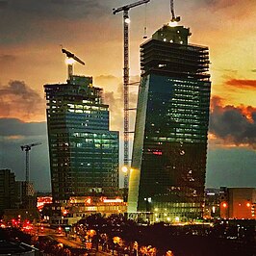
[{"label": "whole orange and grey sunset sky behind the towers and cranes", "polygon": [[[31,151],[31,179],[50,191],[43,85],[64,83],[61,44],[86,65],[110,105],[111,129],[122,131],[122,13],[136,0],[0,0],[0,168],[25,177],[20,145]],[[175,0],[192,44],[210,48],[212,104],[207,187],[256,187],[256,2]],[[130,73],[140,80],[144,26],[150,37],[170,19],[169,0],[151,0],[130,11]],[[131,90],[130,107],[136,106]],[[134,115],[131,115],[133,130]]]}]

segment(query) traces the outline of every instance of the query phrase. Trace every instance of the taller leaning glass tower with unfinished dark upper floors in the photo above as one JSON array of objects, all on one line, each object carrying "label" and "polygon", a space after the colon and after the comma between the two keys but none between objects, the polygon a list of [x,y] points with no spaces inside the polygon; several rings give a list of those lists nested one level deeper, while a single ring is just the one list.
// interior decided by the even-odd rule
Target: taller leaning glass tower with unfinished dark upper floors
[{"label": "taller leaning glass tower with unfinished dark upper floors", "polygon": [[141,86],[128,214],[150,221],[202,217],[211,83],[207,47],[168,26],[141,45]]}]

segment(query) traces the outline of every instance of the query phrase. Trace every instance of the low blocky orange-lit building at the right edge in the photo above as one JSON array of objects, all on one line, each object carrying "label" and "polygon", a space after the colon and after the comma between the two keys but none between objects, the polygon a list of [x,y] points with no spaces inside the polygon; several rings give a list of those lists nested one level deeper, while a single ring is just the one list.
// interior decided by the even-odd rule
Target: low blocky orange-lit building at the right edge
[{"label": "low blocky orange-lit building at the right edge", "polygon": [[255,188],[220,188],[220,218],[256,219]]}]

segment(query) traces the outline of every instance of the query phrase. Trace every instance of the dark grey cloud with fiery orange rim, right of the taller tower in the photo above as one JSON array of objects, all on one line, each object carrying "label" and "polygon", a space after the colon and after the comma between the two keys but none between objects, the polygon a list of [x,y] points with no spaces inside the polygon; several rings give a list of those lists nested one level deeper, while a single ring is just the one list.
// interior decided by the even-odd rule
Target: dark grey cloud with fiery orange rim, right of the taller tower
[{"label": "dark grey cloud with fiery orange rim, right of the taller tower", "polygon": [[212,99],[210,132],[218,138],[247,144],[256,149],[256,109],[253,107],[222,106],[221,99]]}]

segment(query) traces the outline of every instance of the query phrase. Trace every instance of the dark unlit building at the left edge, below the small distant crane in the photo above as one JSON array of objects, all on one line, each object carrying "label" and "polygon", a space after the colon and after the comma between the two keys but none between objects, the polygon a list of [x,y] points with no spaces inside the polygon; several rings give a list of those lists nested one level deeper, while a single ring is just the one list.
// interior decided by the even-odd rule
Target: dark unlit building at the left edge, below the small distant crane
[{"label": "dark unlit building at the left edge, below the small distant crane", "polygon": [[15,174],[11,169],[0,169],[0,212],[15,207]]}]

